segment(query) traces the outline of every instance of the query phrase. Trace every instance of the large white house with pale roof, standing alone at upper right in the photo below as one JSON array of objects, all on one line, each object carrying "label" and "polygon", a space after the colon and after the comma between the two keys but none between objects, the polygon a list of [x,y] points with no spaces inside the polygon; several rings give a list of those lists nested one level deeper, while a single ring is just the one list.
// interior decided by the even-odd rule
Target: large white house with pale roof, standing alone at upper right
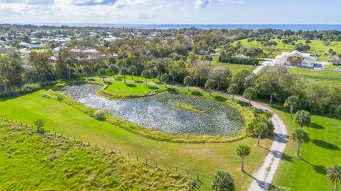
[{"label": "large white house with pale roof, standing alone at upper right", "polygon": [[311,57],[309,53],[301,53],[298,50],[294,50],[291,53],[282,53],[276,56],[274,64],[313,68],[315,62],[315,58]]}]

